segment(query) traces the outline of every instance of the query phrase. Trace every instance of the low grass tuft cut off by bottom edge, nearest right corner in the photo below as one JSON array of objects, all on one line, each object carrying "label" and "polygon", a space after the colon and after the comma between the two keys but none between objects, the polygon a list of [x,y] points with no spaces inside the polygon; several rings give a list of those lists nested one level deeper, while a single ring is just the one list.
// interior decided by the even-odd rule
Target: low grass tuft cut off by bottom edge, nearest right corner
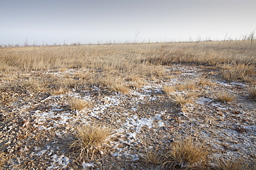
[{"label": "low grass tuft cut off by bottom edge, nearest right corner", "polygon": [[241,160],[224,160],[223,158],[217,158],[213,161],[214,166],[212,167],[214,170],[246,170],[248,169],[247,164]]}]

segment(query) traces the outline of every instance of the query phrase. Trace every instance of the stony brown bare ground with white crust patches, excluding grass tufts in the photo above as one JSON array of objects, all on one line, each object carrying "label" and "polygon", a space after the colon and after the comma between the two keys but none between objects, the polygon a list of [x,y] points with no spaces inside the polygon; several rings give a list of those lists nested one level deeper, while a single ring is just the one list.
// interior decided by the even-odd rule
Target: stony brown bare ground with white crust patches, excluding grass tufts
[{"label": "stony brown bare ground with white crust patches, excluding grass tufts", "polygon": [[[67,70],[68,73],[87,72]],[[58,70],[15,73],[18,81],[54,74]],[[96,73],[95,73],[96,74]],[[253,169],[256,153],[255,100],[248,97],[250,83],[224,81],[218,68],[196,65],[165,66],[170,77],[144,77],[142,87],[129,93],[110,92],[98,85],[75,85],[71,91],[52,94],[4,81],[0,96],[0,167],[2,169],[161,169],[146,163],[140,155],[146,149],[165,152],[174,141],[193,136],[205,142],[210,159],[242,158]],[[2,74],[3,76],[3,74]],[[163,86],[196,81],[205,76],[212,85],[198,85],[194,103],[185,109],[172,100],[174,94],[188,90],[163,92]],[[127,80],[127,85],[130,83]],[[231,102],[215,100],[214,93],[235,95]],[[92,103],[77,111],[68,101],[80,98]],[[94,160],[77,160],[68,149],[75,127],[90,124],[116,129],[109,149]]]}]

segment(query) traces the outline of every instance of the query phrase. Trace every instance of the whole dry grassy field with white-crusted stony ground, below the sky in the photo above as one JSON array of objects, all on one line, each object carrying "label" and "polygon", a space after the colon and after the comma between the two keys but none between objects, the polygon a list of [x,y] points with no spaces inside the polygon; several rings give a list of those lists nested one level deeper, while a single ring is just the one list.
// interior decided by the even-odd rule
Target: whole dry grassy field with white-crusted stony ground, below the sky
[{"label": "whole dry grassy field with white-crusted stony ground, below the sky", "polygon": [[256,169],[256,41],[0,47],[0,169]]}]

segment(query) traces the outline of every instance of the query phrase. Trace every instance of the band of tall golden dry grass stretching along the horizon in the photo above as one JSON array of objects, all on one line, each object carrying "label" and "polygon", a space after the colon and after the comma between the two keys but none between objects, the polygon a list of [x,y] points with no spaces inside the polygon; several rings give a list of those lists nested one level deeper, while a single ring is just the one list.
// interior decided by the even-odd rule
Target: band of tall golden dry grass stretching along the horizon
[{"label": "band of tall golden dry grass stretching along the horizon", "polygon": [[[148,74],[158,65],[256,65],[256,41],[136,43],[51,47],[1,47],[0,71],[91,68]],[[145,66],[151,66],[149,69]],[[151,74],[159,72],[155,69]]]}]

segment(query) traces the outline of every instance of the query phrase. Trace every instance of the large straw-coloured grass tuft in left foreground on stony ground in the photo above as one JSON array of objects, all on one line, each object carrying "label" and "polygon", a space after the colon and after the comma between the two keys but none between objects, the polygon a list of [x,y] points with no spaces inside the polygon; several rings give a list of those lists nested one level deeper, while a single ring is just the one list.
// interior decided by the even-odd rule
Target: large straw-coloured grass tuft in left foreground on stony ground
[{"label": "large straw-coloured grass tuft in left foreground on stony ground", "polygon": [[93,160],[97,154],[104,154],[109,147],[113,129],[102,125],[84,125],[77,127],[75,138],[69,144],[69,148],[79,153],[77,160]]}]

